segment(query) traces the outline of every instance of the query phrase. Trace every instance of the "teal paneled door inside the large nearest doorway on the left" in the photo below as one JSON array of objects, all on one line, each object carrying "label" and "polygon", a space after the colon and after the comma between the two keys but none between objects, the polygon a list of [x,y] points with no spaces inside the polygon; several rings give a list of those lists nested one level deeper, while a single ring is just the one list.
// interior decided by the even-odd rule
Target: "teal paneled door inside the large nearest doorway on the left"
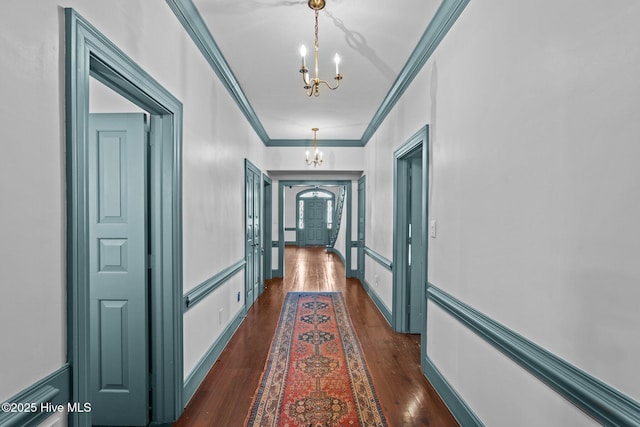
[{"label": "teal paneled door inside the large nearest doorway on the left", "polygon": [[89,119],[90,387],[94,425],[149,422],[145,115]]}]

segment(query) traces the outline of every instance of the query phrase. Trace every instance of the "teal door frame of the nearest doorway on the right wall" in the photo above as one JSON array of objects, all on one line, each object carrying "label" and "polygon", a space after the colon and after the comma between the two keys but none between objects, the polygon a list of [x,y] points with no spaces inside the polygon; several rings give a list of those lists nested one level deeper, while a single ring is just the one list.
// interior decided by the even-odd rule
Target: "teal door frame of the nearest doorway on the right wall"
[{"label": "teal door frame of the nearest doorway on the right wall", "polygon": [[[407,207],[408,197],[406,188],[408,186],[408,162],[419,150],[422,150],[422,232],[420,239],[424,249],[424,263],[421,263],[421,275],[424,286],[427,283],[428,273],[428,242],[427,242],[427,218],[428,212],[428,189],[429,189],[429,126],[426,125],[418,132],[413,134],[402,146],[393,152],[393,295],[392,295],[392,316],[391,327],[396,332],[408,332],[409,319],[407,306],[408,286],[407,272],[399,266],[407,265],[409,253],[407,251],[408,237],[405,230],[409,224],[411,212]],[[415,237],[412,237],[415,238]],[[425,289],[426,295],[426,289]],[[426,305],[426,299],[423,301]],[[422,340],[426,337],[426,310],[425,319],[422,322],[421,335]],[[424,344],[424,343],[423,343]],[[426,347],[422,347],[426,348]]]}]

